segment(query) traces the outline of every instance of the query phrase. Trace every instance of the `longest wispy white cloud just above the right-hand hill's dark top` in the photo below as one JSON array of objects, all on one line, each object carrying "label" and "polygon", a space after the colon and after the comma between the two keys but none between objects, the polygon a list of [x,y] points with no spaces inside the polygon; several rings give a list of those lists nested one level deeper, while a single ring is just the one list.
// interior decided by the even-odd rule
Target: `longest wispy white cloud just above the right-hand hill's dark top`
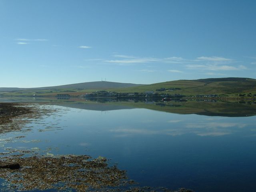
[{"label": "longest wispy white cloud just above the right-hand hill's dark top", "polygon": [[218,65],[218,64],[188,64],[187,69],[195,70],[211,70],[211,71],[228,71],[228,70],[245,70],[246,66],[228,66],[228,65]]}]

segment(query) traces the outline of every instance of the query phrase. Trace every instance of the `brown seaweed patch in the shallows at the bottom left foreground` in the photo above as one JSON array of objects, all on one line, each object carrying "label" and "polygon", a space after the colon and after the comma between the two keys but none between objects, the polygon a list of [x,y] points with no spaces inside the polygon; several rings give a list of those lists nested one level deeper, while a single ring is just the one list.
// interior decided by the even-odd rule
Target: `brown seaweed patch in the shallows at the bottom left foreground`
[{"label": "brown seaweed patch in the shallows at the bottom left foreground", "polygon": [[5,157],[0,164],[19,164],[20,168],[1,168],[0,175],[10,183],[10,189],[18,190],[85,191],[127,183],[125,170],[108,166],[106,158],[90,159],[87,155]]}]

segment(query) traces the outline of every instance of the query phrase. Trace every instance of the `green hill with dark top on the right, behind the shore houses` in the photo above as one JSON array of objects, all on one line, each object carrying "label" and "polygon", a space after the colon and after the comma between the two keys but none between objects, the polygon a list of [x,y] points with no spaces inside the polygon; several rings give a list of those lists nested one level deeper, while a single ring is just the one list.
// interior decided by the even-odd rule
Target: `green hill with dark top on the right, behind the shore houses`
[{"label": "green hill with dark top on the right, behind the shore houses", "polygon": [[165,88],[166,90],[158,93],[183,94],[186,96],[195,96],[197,94],[256,94],[256,79],[230,77],[198,80],[176,80],[136,86],[133,88],[116,88],[115,91],[145,92],[149,90],[156,91],[161,88]]}]

